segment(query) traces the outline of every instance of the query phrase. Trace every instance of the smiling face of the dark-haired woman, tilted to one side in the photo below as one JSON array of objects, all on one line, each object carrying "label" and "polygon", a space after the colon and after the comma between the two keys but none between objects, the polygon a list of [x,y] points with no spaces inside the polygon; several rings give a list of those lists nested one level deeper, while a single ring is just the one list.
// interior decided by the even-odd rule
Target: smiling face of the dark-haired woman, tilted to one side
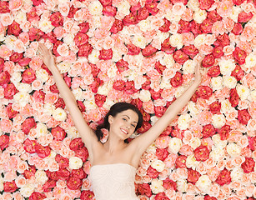
[{"label": "smiling face of the dark-haired woman, tilted to one side", "polygon": [[138,114],[133,110],[119,112],[115,117],[109,116],[110,130],[123,139],[129,138],[135,131],[138,123]]}]

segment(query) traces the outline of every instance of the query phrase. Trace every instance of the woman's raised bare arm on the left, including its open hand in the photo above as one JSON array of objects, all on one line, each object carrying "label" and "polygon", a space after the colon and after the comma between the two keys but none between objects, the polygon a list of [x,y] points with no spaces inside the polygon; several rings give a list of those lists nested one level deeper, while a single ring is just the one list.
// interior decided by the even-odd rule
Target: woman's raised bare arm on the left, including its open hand
[{"label": "woman's raised bare arm on the left, including its open hand", "polygon": [[63,100],[68,108],[68,112],[73,118],[75,127],[78,129],[83,143],[88,148],[89,153],[92,150],[93,144],[98,143],[98,138],[93,133],[93,130],[88,126],[83,118],[82,112],[78,108],[77,100],[73,96],[73,92],[69,89],[66,82],[63,80],[61,73],[58,71],[58,67],[55,64],[53,53],[48,50],[45,45],[39,43],[38,47],[39,56],[43,59],[43,62],[48,69],[53,73],[53,79],[57,84],[58,91],[63,97]]}]

